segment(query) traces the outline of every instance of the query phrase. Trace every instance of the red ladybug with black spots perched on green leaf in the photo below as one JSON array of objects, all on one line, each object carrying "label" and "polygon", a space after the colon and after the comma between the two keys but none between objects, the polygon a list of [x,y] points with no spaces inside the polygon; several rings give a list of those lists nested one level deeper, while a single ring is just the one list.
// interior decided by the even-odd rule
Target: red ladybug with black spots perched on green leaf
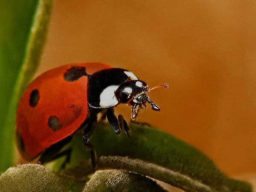
[{"label": "red ladybug with black spots perched on green leaf", "polygon": [[15,125],[17,148],[25,160],[40,155],[41,163],[53,160],[60,156],[52,152],[54,155],[46,158],[53,146],[60,151],[80,127],[87,125],[84,143],[90,140],[96,116],[103,109],[116,134],[122,128],[128,133],[127,122],[121,115],[116,117],[113,107],[132,105],[132,119],[145,103],[160,111],[147,94],[157,87],[149,89],[132,72],[102,63],[67,64],[49,70],[34,79],[20,99]]}]

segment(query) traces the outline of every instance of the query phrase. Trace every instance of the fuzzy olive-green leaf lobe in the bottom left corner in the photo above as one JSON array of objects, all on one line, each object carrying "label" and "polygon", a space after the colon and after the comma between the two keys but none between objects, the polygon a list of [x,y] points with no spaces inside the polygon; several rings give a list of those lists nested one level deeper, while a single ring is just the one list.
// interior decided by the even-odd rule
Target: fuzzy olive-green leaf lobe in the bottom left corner
[{"label": "fuzzy olive-green leaf lobe in the bottom left corner", "polygon": [[52,172],[37,164],[17,165],[0,175],[1,192],[81,191],[85,180]]}]

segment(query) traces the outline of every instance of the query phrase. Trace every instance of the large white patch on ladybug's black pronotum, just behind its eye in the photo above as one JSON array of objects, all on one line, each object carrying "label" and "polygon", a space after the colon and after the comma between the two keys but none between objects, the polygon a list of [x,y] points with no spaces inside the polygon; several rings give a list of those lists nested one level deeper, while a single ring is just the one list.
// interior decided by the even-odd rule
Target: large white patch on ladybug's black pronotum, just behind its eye
[{"label": "large white patch on ladybug's black pronotum, just behind its eye", "polygon": [[115,96],[115,91],[117,90],[118,85],[111,85],[106,87],[99,96],[99,105],[102,108],[112,107],[118,104],[118,100]]}]

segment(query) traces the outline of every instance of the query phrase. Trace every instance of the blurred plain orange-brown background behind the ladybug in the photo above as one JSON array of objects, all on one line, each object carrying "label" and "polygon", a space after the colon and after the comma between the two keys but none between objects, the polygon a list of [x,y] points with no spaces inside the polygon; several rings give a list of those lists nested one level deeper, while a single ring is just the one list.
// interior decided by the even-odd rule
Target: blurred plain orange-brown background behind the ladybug
[{"label": "blurred plain orange-brown background behind the ladybug", "polygon": [[[160,112],[148,122],[228,175],[256,172],[256,2],[56,0],[37,75],[69,63],[133,71]],[[131,116],[131,107],[117,113]]]}]

